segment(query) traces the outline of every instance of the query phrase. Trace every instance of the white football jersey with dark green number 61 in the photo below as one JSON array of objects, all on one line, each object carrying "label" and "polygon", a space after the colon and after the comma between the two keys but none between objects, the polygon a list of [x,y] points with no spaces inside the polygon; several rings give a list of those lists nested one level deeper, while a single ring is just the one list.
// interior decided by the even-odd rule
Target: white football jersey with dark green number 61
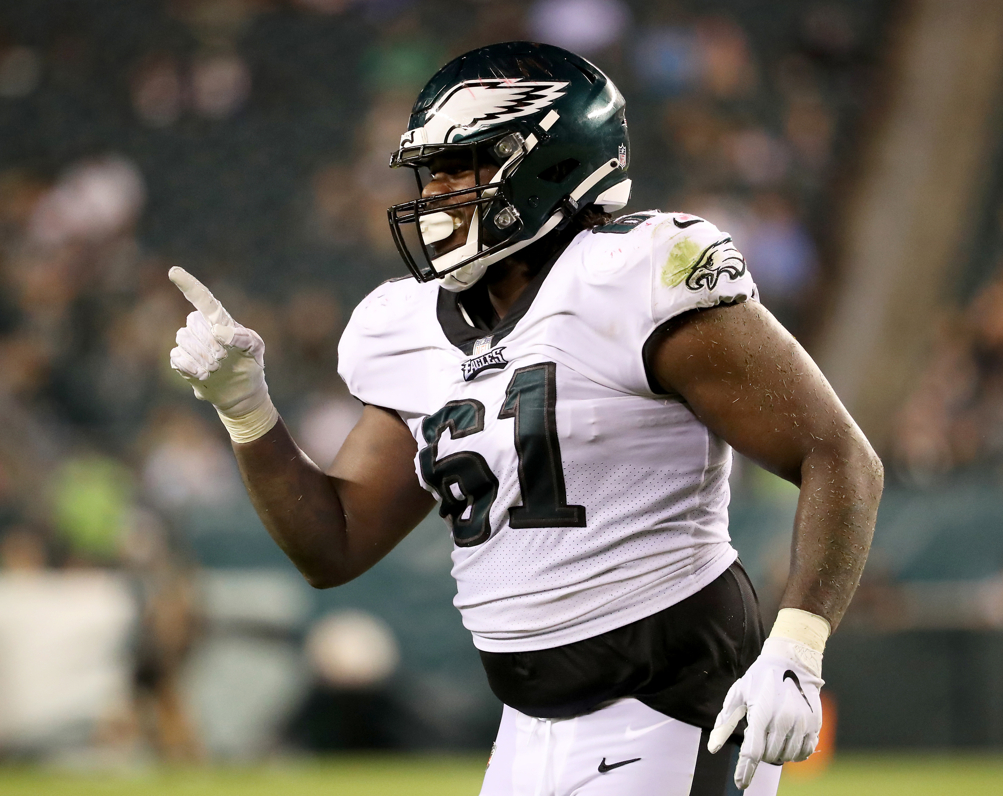
[{"label": "white football jersey with dark green number 61", "polygon": [[755,299],[726,233],[656,211],[581,233],[490,335],[435,283],[384,283],[339,372],[396,410],[453,535],[455,606],[488,652],[558,647],[655,614],[735,559],[731,449],[649,384],[680,313]]}]

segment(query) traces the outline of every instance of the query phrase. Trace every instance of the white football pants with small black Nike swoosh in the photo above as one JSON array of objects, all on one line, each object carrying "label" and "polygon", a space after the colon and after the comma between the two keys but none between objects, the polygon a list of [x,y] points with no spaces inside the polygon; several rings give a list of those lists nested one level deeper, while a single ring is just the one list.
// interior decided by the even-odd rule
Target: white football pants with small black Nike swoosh
[{"label": "white football pants with small black Nike swoosh", "polygon": [[[741,793],[731,781],[736,747],[711,755],[706,744],[706,731],[635,699],[573,719],[535,719],[506,706],[480,796]],[[745,796],[775,796],[781,770],[761,763]]]}]

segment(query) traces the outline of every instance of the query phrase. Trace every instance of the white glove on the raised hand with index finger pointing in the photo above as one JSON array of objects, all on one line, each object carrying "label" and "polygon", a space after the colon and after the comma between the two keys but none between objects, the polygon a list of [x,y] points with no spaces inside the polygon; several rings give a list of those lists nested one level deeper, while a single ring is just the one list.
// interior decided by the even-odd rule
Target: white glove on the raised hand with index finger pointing
[{"label": "white glove on the raised hand with index finger pointing", "polygon": [[265,343],[237,323],[209,288],[175,266],[168,277],[196,311],[178,330],[171,367],[196,397],[216,407],[235,442],[251,442],[272,429],[279,413],[265,383]]}]

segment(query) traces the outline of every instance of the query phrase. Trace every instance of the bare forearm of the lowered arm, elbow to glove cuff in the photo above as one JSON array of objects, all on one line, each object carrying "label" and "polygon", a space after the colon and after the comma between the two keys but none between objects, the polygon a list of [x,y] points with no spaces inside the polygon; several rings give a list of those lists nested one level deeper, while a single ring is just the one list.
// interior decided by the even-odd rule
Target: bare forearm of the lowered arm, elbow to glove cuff
[{"label": "bare forearm of the lowered arm, elbow to glove cuff", "polygon": [[804,459],[780,608],[824,617],[835,630],[867,561],[883,482],[881,460],[863,439]]}]

